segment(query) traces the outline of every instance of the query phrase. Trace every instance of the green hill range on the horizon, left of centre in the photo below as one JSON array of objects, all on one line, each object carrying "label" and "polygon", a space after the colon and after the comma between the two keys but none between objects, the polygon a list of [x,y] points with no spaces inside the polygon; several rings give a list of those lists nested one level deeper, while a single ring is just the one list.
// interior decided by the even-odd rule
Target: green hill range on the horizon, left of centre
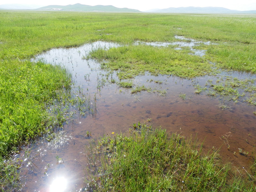
[{"label": "green hill range on the horizon, left of centre", "polygon": [[83,5],[80,3],[74,5],[48,5],[36,10],[60,10],[60,11],[103,11],[103,12],[141,12],[136,9],[117,8],[112,5]]}]

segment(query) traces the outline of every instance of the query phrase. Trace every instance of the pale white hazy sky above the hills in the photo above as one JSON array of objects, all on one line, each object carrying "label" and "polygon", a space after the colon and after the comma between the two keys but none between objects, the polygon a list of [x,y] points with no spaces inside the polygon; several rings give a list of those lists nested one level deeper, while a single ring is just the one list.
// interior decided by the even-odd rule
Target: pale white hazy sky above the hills
[{"label": "pale white hazy sky above the hills", "polygon": [[68,4],[85,4],[85,5],[113,5],[119,8],[138,9],[146,11],[150,9],[163,9],[169,7],[225,7],[232,10],[256,10],[256,0],[1,0],[0,4],[38,4],[46,5],[68,5]]}]

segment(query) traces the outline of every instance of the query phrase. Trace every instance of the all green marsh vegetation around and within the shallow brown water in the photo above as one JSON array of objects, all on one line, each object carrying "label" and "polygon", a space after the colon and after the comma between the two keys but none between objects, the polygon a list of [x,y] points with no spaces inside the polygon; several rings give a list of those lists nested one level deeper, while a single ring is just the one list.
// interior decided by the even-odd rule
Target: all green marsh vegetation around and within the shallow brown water
[{"label": "all green marsh vegetation around and within the shallow brown water", "polygon": [[[154,47],[134,44],[137,41],[175,42],[175,35],[210,41],[193,47],[206,50],[205,55],[195,55],[186,46],[180,49],[176,45]],[[93,50],[88,58],[100,60],[104,70],[116,71],[120,81],[111,78],[110,83],[132,88],[131,93],[145,90],[162,96],[166,94],[165,90],[134,85],[130,80],[146,72],[155,76],[163,74],[189,79],[214,74],[218,68],[256,72],[255,15],[0,11],[2,190],[18,185],[19,163],[9,164],[7,160],[23,143],[61,126],[66,120],[67,108],[72,105],[78,106],[82,116],[88,111],[96,113],[96,95],[92,103],[90,96],[70,94],[72,82],[66,69],[29,59],[54,47],[72,47],[98,40],[124,45],[109,50]],[[89,81],[89,74],[84,78]],[[105,81],[99,80],[99,90]],[[162,84],[161,81],[155,83]],[[208,95],[232,100],[246,96],[250,104],[256,105],[253,83],[251,80],[219,80],[216,84],[208,82],[205,88],[196,85],[195,93],[205,91]],[[186,93],[179,96],[186,99]],[[220,107],[228,108],[225,105]],[[91,132],[88,131],[89,136]],[[51,140],[51,136],[48,139]],[[98,154],[104,158],[109,154],[116,163],[107,158],[99,169],[104,174],[90,183],[93,189],[102,189],[103,186],[103,190],[125,191],[121,182],[126,183],[125,187],[132,187],[125,188],[126,191],[178,191],[178,188],[188,191],[197,187],[199,191],[241,191],[242,188],[250,191],[253,188],[252,182],[245,183],[242,179],[229,183],[226,180],[226,176],[229,177],[228,166],[221,167],[216,163],[216,153],[201,156],[179,135],[167,139],[163,130],[141,135],[136,133],[134,137],[107,137],[100,148],[106,146],[108,149]],[[129,148],[136,149],[133,151],[136,156]],[[108,164],[108,160],[113,164]],[[138,172],[133,172],[135,170]]]}]

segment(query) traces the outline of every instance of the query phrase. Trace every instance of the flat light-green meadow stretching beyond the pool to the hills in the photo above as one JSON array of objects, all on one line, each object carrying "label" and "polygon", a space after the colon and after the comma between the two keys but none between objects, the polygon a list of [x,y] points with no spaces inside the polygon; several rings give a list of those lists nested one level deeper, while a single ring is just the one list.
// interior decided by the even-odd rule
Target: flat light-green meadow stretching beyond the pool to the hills
[{"label": "flat light-green meadow stretching beyond the pool to the hills", "polygon": [[255,72],[254,14],[1,11],[0,18],[0,59],[23,59],[52,47],[96,40],[170,42],[174,35],[183,35],[217,43],[204,49],[218,66]]}]

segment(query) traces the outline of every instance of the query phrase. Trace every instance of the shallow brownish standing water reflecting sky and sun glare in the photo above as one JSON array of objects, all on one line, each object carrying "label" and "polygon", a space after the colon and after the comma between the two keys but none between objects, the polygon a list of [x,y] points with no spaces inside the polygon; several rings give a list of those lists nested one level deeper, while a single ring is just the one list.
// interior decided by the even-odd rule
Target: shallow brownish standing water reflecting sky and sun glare
[{"label": "shallow brownish standing water reflecting sky and sun glare", "polygon": [[[180,36],[176,38],[184,40]],[[210,43],[185,40],[190,40],[190,43],[176,42],[176,49],[188,46],[200,56],[205,51],[195,50],[195,45]],[[137,43],[168,46],[160,42]],[[220,148],[223,160],[242,170],[241,174],[245,173],[243,167],[248,170],[252,156],[255,155],[255,107],[243,102],[242,98],[229,101],[219,96],[209,96],[207,90],[196,94],[195,86],[204,87],[207,84],[210,88],[209,84],[214,82],[233,77],[254,79],[254,75],[222,72],[216,76],[187,80],[146,74],[133,80],[134,87],[150,86],[155,93],[142,91],[131,94],[131,89],[121,88],[110,82],[111,78],[118,82],[115,73],[101,71],[100,64],[94,60],[82,59],[92,49],[113,46],[121,45],[94,42],[77,48],[52,49],[36,57],[35,60],[41,59],[68,68],[76,82],[73,90],[82,92],[77,97],[90,98],[92,106],[96,105],[96,113],[81,116],[75,106],[74,110],[77,112],[74,119],[64,125],[63,131],[58,132],[54,140],[39,140],[16,156],[23,159],[20,169],[23,191],[48,192],[61,188],[63,191],[81,191],[86,176],[86,146],[89,142],[104,134],[129,132],[129,129],[133,129],[130,125],[139,121],[152,124],[155,128],[161,126],[168,133],[181,133],[187,138],[192,135],[193,139],[204,141],[205,151]]]}]

